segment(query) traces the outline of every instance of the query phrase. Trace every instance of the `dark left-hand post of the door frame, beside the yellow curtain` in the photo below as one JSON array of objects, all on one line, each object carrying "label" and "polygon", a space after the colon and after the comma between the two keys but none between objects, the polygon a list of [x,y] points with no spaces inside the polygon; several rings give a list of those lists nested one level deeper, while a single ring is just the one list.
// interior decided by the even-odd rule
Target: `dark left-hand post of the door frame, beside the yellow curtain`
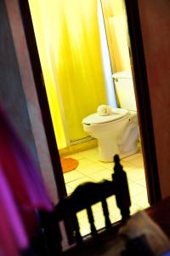
[{"label": "dark left-hand post of the door frame, beside the yellow curtain", "polygon": [[54,179],[57,187],[59,199],[67,195],[65,189],[65,180],[59,159],[59,150],[54,134],[54,126],[48,104],[48,96],[42,75],[42,67],[38,55],[36,37],[34,34],[33,24],[31,20],[31,12],[28,1],[19,0],[20,15],[26,35],[26,44],[31,60],[32,73],[37,90],[37,98],[42,113],[42,123],[46,133],[49,154],[54,171]]}]

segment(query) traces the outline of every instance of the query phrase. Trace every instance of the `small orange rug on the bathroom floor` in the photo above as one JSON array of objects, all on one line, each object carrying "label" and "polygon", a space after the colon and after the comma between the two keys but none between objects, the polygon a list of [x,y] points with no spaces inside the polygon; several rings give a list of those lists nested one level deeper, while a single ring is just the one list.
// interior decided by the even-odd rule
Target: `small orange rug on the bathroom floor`
[{"label": "small orange rug on the bathroom floor", "polygon": [[71,157],[61,157],[60,158],[61,167],[63,172],[71,172],[75,170],[78,166],[78,161]]}]

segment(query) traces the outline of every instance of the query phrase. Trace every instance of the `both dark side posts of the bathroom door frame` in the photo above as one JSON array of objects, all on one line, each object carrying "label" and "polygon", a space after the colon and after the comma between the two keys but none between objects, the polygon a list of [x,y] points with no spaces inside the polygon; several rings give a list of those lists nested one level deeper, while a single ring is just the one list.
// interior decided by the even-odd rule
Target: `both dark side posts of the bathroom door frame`
[{"label": "both dark side posts of the bathroom door frame", "polygon": [[[30,54],[32,73],[37,88],[37,96],[42,111],[42,120],[45,128],[48,148],[54,169],[54,178],[59,199],[66,195],[65,181],[59,160],[59,150],[54,135],[53,122],[48,105],[48,97],[42,79],[42,67],[37,51],[37,43],[31,20],[28,1],[19,0],[20,14],[26,34],[26,43]],[[145,177],[150,204],[161,200],[161,189],[156,161],[156,145],[152,116],[150,110],[150,93],[144,61],[144,47],[139,20],[138,1],[125,0],[127,11],[127,26],[130,37],[130,54],[133,59],[134,90],[139,113],[139,128],[144,155]]]}]

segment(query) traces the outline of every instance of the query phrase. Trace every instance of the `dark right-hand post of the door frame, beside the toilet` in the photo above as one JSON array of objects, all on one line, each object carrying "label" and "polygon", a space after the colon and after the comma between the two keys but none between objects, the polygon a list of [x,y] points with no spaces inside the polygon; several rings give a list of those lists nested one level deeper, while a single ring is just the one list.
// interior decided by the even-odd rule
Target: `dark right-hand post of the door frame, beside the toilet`
[{"label": "dark right-hand post of the door frame, beside the toilet", "polygon": [[134,91],[139,113],[139,128],[144,155],[144,170],[150,205],[161,200],[161,188],[156,160],[156,143],[150,108],[150,92],[144,60],[144,45],[137,1],[124,0],[133,59]]}]

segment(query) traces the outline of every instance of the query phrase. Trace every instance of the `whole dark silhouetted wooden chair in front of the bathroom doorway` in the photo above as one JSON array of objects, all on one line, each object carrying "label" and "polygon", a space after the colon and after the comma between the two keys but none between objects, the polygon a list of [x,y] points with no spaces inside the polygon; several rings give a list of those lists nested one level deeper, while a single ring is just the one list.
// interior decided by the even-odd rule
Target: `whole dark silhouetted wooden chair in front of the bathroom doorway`
[{"label": "whole dark silhouetted wooden chair in front of the bathroom doorway", "polygon": [[[70,245],[73,243],[77,244],[79,255],[82,255],[80,248],[83,247],[83,253],[85,253],[84,246],[89,246],[91,240],[94,240],[94,243],[97,242],[99,246],[100,242],[107,241],[107,239],[116,235],[117,230],[130,216],[129,207],[131,206],[131,201],[127,185],[127,175],[122,169],[118,155],[114,156],[114,162],[114,173],[112,174],[111,181],[82,183],[77,186],[71,195],[59,201],[59,204],[54,207],[53,212],[41,212],[43,241],[45,241],[47,251],[46,254],[41,255],[60,255],[63,253],[61,246],[62,236],[59,230],[59,222],[62,220],[65,222],[66,230],[69,230],[67,232],[68,242]],[[122,215],[122,220],[116,222],[116,224],[111,224],[106,201],[111,195],[116,196],[116,206],[120,209]],[[101,202],[105,217],[105,229],[102,230],[96,230],[92,212],[92,206],[99,201]],[[77,212],[83,209],[86,209],[88,213],[88,222],[91,230],[90,235],[85,239],[81,236],[77,220]],[[102,240],[99,241],[99,237],[103,237]],[[77,255],[75,250],[75,248],[69,249],[63,254]],[[95,255],[92,251],[87,253]],[[98,253],[98,255],[100,254]]]}]

